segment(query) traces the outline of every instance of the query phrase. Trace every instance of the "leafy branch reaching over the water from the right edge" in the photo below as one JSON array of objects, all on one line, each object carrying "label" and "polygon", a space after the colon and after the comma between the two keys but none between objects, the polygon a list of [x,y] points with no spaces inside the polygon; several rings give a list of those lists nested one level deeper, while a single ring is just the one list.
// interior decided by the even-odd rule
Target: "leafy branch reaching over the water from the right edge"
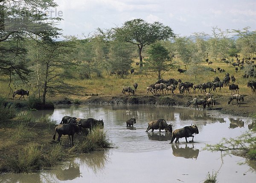
[{"label": "leafy branch reaching over the water from the right edge", "polygon": [[223,155],[229,154],[230,150],[246,150],[249,158],[256,160],[256,132],[245,132],[236,138],[223,138],[215,145],[206,144],[204,150],[221,151]]}]

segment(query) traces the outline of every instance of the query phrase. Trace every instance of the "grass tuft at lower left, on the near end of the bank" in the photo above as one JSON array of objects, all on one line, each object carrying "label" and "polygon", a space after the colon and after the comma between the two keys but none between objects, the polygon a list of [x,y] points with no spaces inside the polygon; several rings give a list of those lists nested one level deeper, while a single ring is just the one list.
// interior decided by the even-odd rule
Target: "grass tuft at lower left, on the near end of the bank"
[{"label": "grass tuft at lower left, on the near end of the bank", "polygon": [[35,172],[41,168],[41,149],[35,144],[29,144],[18,152],[17,157],[9,157],[8,164],[16,173]]}]

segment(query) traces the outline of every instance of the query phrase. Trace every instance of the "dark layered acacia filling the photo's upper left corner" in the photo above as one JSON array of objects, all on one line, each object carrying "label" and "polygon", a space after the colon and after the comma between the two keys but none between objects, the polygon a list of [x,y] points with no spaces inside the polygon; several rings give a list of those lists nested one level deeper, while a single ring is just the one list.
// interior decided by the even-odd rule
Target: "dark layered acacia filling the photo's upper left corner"
[{"label": "dark layered acacia filling the photo's upper left corner", "polygon": [[[24,37],[38,35],[41,39],[58,37],[54,21],[58,17],[47,17],[43,11],[55,8],[54,0],[0,0],[0,75],[18,76],[26,82],[29,74],[25,55]],[[9,84],[10,87],[10,84]],[[12,88],[10,87],[10,92]]]}]

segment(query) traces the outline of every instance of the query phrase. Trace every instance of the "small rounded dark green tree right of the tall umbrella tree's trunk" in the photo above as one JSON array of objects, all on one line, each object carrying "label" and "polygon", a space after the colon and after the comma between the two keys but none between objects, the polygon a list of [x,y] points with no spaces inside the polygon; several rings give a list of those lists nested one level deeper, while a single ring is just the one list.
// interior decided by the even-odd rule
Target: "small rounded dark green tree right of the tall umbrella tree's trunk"
[{"label": "small rounded dark green tree right of the tall umbrella tree's trunk", "polygon": [[161,43],[153,43],[147,52],[148,59],[146,59],[145,66],[147,69],[156,72],[158,79],[161,79],[166,71],[174,68],[168,50]]}]

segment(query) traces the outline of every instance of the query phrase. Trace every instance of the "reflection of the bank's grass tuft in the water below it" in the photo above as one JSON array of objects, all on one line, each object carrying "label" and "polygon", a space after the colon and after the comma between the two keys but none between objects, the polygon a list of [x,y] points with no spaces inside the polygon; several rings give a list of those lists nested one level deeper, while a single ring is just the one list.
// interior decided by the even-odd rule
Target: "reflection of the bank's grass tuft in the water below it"
[{"label": "reflection of the bank's grass tuft in the water below it", "polygon": [[104,170],[106,164],[109,162],[109,151],[104,150],[99,152],[92,152],[86,156],[80,157],[79,159],[81,165],[87,166],[96,174],[97,172]]}]

